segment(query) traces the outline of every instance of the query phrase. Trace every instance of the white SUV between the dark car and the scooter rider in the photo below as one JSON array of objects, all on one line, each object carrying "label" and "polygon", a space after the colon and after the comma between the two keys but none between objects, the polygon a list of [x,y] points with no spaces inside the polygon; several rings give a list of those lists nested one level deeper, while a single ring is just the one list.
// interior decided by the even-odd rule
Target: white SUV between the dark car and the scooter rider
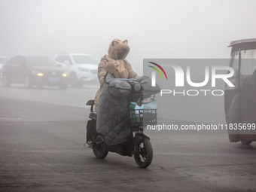
[{"label": "white SUV between the dark car and the scooter rider", "polygon": [[59,53],[55,61],[69,67],[69,83],[72,87],[82,87],[91,81],[98,80],[99,61],[83,53]]}]

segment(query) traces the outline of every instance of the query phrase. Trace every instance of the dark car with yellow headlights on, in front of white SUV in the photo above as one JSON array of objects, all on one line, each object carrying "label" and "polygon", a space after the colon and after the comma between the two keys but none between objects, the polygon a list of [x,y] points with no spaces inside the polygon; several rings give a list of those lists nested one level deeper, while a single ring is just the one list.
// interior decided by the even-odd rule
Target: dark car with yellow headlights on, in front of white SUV
[{"label": "dark car with yellow headlights on, in front of white SUV", "polygon": [[66,69],[45,56],[14,56],[3,66],[2,81],[5,87],[24,84],[26,88],[53,85],[66,89],[69,83]]}]

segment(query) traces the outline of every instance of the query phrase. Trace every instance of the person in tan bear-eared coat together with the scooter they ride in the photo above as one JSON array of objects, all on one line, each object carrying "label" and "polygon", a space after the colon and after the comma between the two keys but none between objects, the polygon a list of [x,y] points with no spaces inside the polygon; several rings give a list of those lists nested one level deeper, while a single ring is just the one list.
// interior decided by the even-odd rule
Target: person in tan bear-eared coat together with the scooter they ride
[{"label": "person in tan bear-eared coat together with the scooter they ride", "polygon": [[[139,167],[145,168],[151,164],[153,148],[143,133],[144,123],[157,123],[157,105],[145,110],[141,105],[144,100],[153,101],[160,87],[151,87],[148,77],[139,77],[133,71],[125,59],[129,50],[127,40],[114,39],[108,56],[99,63],[100,88],[95,100],[87,102],[91,107],[86,143],[98,158],[105,158],[111,151],[134,157]],[[139,111],[133,108],[136,103],[140,104]]]}]

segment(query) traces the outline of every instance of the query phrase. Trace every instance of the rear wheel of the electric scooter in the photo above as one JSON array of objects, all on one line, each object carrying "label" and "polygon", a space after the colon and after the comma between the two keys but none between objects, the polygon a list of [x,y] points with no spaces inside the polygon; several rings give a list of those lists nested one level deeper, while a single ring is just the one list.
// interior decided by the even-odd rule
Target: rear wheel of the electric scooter
[{"label": "rear wheel of the electric scooter", "polygon": [[103,159],[108,155],[104,139],[100,135],[96,136],[96,139],[93,142],[93,154],[99,159]]}]

